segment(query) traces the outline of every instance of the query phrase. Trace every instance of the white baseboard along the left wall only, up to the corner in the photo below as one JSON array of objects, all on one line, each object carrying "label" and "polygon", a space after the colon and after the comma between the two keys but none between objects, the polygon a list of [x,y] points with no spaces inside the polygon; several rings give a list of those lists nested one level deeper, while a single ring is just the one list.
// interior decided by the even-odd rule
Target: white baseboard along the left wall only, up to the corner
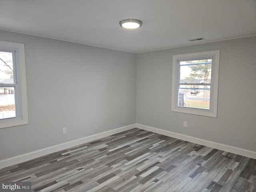
[{"label": "white baseboard along the left wall only, up to the corner", "polygon": [[107,136],[110,136],[110,135],[113,135],[113,134],[117,134],[117,133],[120,133],[120,132],[123,132],[123,131],[126,131],[126,130],[133,129],[133,128],[136,128],[136,124],[131,124],[131,125],[128,125],[128,126],[112,129],[112,130],[109,130],[109,131],[94,134],[94,135],[87,136],[87,137],[84,137],[84,138],[72,140],[72,141],[69,141],[69,142],[62,143],[62,144],[58,144],[58,145],[50,146],[50,147],[47,147],[47,148],[44,148],[44,149],[29,152],[29,153],[26,153],[26,154],[22,154],[22,155],[18,155],[18,156],[15,156],[15,157],[8,158],[8,159],[0,160],[0,169],[8,167],[8,166],[15,165],[15,164],[18,164],[18,163],[22,163],[22,162],[25,162],[25,161],[28,161],[28,160],[32,160],[34,158],[38,158],[38,157],[41,157],[41,156],[44,156],[44,155],[48,155],[48,154],[51,154],[51,153],[54,153],[54,152],[65,150],[65,149],[70,148],[70,147],[74,147],[74,146],[81,145],[81,144],[84,144],[84,143],[87,143],[87,142],[91,142],[93,140],[101,139],[101,138],[104,138],[104,137],[107,137]]}]

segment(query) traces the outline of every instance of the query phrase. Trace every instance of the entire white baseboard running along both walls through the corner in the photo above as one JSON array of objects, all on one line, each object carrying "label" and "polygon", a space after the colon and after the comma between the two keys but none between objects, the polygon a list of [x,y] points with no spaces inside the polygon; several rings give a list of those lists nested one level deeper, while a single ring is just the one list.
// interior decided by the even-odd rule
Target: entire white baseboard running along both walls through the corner
[{"label": "entire white baseboard running along both walls through the corner", "polygon": [[167,130],[162,130],[159,128],[154,128],[154,127],[150,127],[150,126],[146,126],[146,125],[142,125],[142,124],[131,124],[128,126],[124,126],[124,127],[120,127],[120,128],[116,128],[116,129],[112,129],[106,132],[102,132],[102,133],[98,133],[98,134],[94,134],[91,136],[87,136],[84,138],[79,138],[76,140],[72,140],[69,142],[65,142],[62,144],[58,144],[58,145],[54,145],[54,146],[50,146],[48,148],[44,148],[44,149],[40,149],[40,150],[36,150],[33,152],[29,152],[26,154],[22,154],[22,155],[18,155],[15,157],[11,157],[8,159],[4,159],[4,160],[0,160],[0,169],[8,167],[8,166],[12,166],[18,163],[22,163],[28,160],[32,160],[34,158],[38,158],[44,155],[48,155],[54,152],[58,152],[61,150],[65,150],[67,148],[70,147],[74,147],[80,144],[84,144],[87,142],[91,142],[97,139],[101,139],[113,134],[117,134],[126,130],[130,130],[133,128],[139,128],[142,130],[147,130],[147,131],[151,131],[154,133],[158,133],[158,134],[162,134],[162,135],[166,135],[169,137],[173,137],[173,138],[177,138],[177,139],[181,139],[184,141],[188,141],[188,142],[192,142],[192,143],[196,143],[196,144],[200,144],[200,145],[204,145],[204,146],[208,146],[211,148],[215,148],[218,150],[223,150],[226,152],[230,152],[230,153],[234,153],[234,154],[238,154],[238,155],[242,155],[242,156],[246,156],[249,158],[253,158],[256,159],[256,152],[255,151],[250,151],[250,150],[246,150],[246,149],[242,149],[242,148],[237,148],[237,147],[233,147],[233,146],[229,146],[229,145],[225,145],[225,144],[221,144],[221,143],[217,143],[217,142],[212,142],[212,141],[208,141],[208,140],[204,140],[204,139],[200,139],[200,138],[196,138],[196,137],[192,137],[192,136],[187,136],[184,134],[179,134],[179,133],[175,133],[175,132],[171,132],[171,131],[167,131]]}]

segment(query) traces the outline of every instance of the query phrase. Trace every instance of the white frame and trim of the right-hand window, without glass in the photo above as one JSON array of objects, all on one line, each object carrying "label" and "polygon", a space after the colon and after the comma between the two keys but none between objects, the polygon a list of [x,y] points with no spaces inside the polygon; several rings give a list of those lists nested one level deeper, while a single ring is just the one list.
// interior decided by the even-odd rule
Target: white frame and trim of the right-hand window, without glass
[{"label": "white frame and trim of the right-hand window, without glass", "polygon": [[[211,78],[211,89],[210,89],[210,109],[199,109],[199,108],[188,108],[178,106],[178,83],[180,71],[178,66],[179,60],[200,60],[200,58],[213,57],[212,60],[212,78]],[[219,80],[219,62],[220,62],[220,50],[196,52],[188,54],[173,55],[172,57],[172,108],[173,112],[195,114],[208,117],[217,117],[217,106],[218,106],[218,80]]]}]

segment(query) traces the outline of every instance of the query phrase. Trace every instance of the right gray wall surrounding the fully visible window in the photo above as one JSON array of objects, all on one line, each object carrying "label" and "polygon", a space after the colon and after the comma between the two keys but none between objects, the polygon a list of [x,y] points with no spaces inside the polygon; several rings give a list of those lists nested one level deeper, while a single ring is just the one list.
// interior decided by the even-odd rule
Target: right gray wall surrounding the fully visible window
[{"label": "right gray wall surrounding the fully visible window", "polygon": [[[220,50],[218,117],[171,112],[172,56],[209,50]],[[255,56],[256,36],[137,54],[136,122],[256,151]]]}]

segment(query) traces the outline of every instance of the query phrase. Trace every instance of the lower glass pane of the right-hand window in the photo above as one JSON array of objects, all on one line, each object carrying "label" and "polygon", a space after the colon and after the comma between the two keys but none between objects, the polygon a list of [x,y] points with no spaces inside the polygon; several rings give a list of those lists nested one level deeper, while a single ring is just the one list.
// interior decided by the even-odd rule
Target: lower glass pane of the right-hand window
[{"label": "lower glass pane of the right-hand window", "polygon": [[[187,87],[190,87],[188,85]],[[204,87],[204,86],[202,86]],[[210,87],[210,86],[206,86]],[[210,109],[210,89],[179,89],[178,106]]]}]

